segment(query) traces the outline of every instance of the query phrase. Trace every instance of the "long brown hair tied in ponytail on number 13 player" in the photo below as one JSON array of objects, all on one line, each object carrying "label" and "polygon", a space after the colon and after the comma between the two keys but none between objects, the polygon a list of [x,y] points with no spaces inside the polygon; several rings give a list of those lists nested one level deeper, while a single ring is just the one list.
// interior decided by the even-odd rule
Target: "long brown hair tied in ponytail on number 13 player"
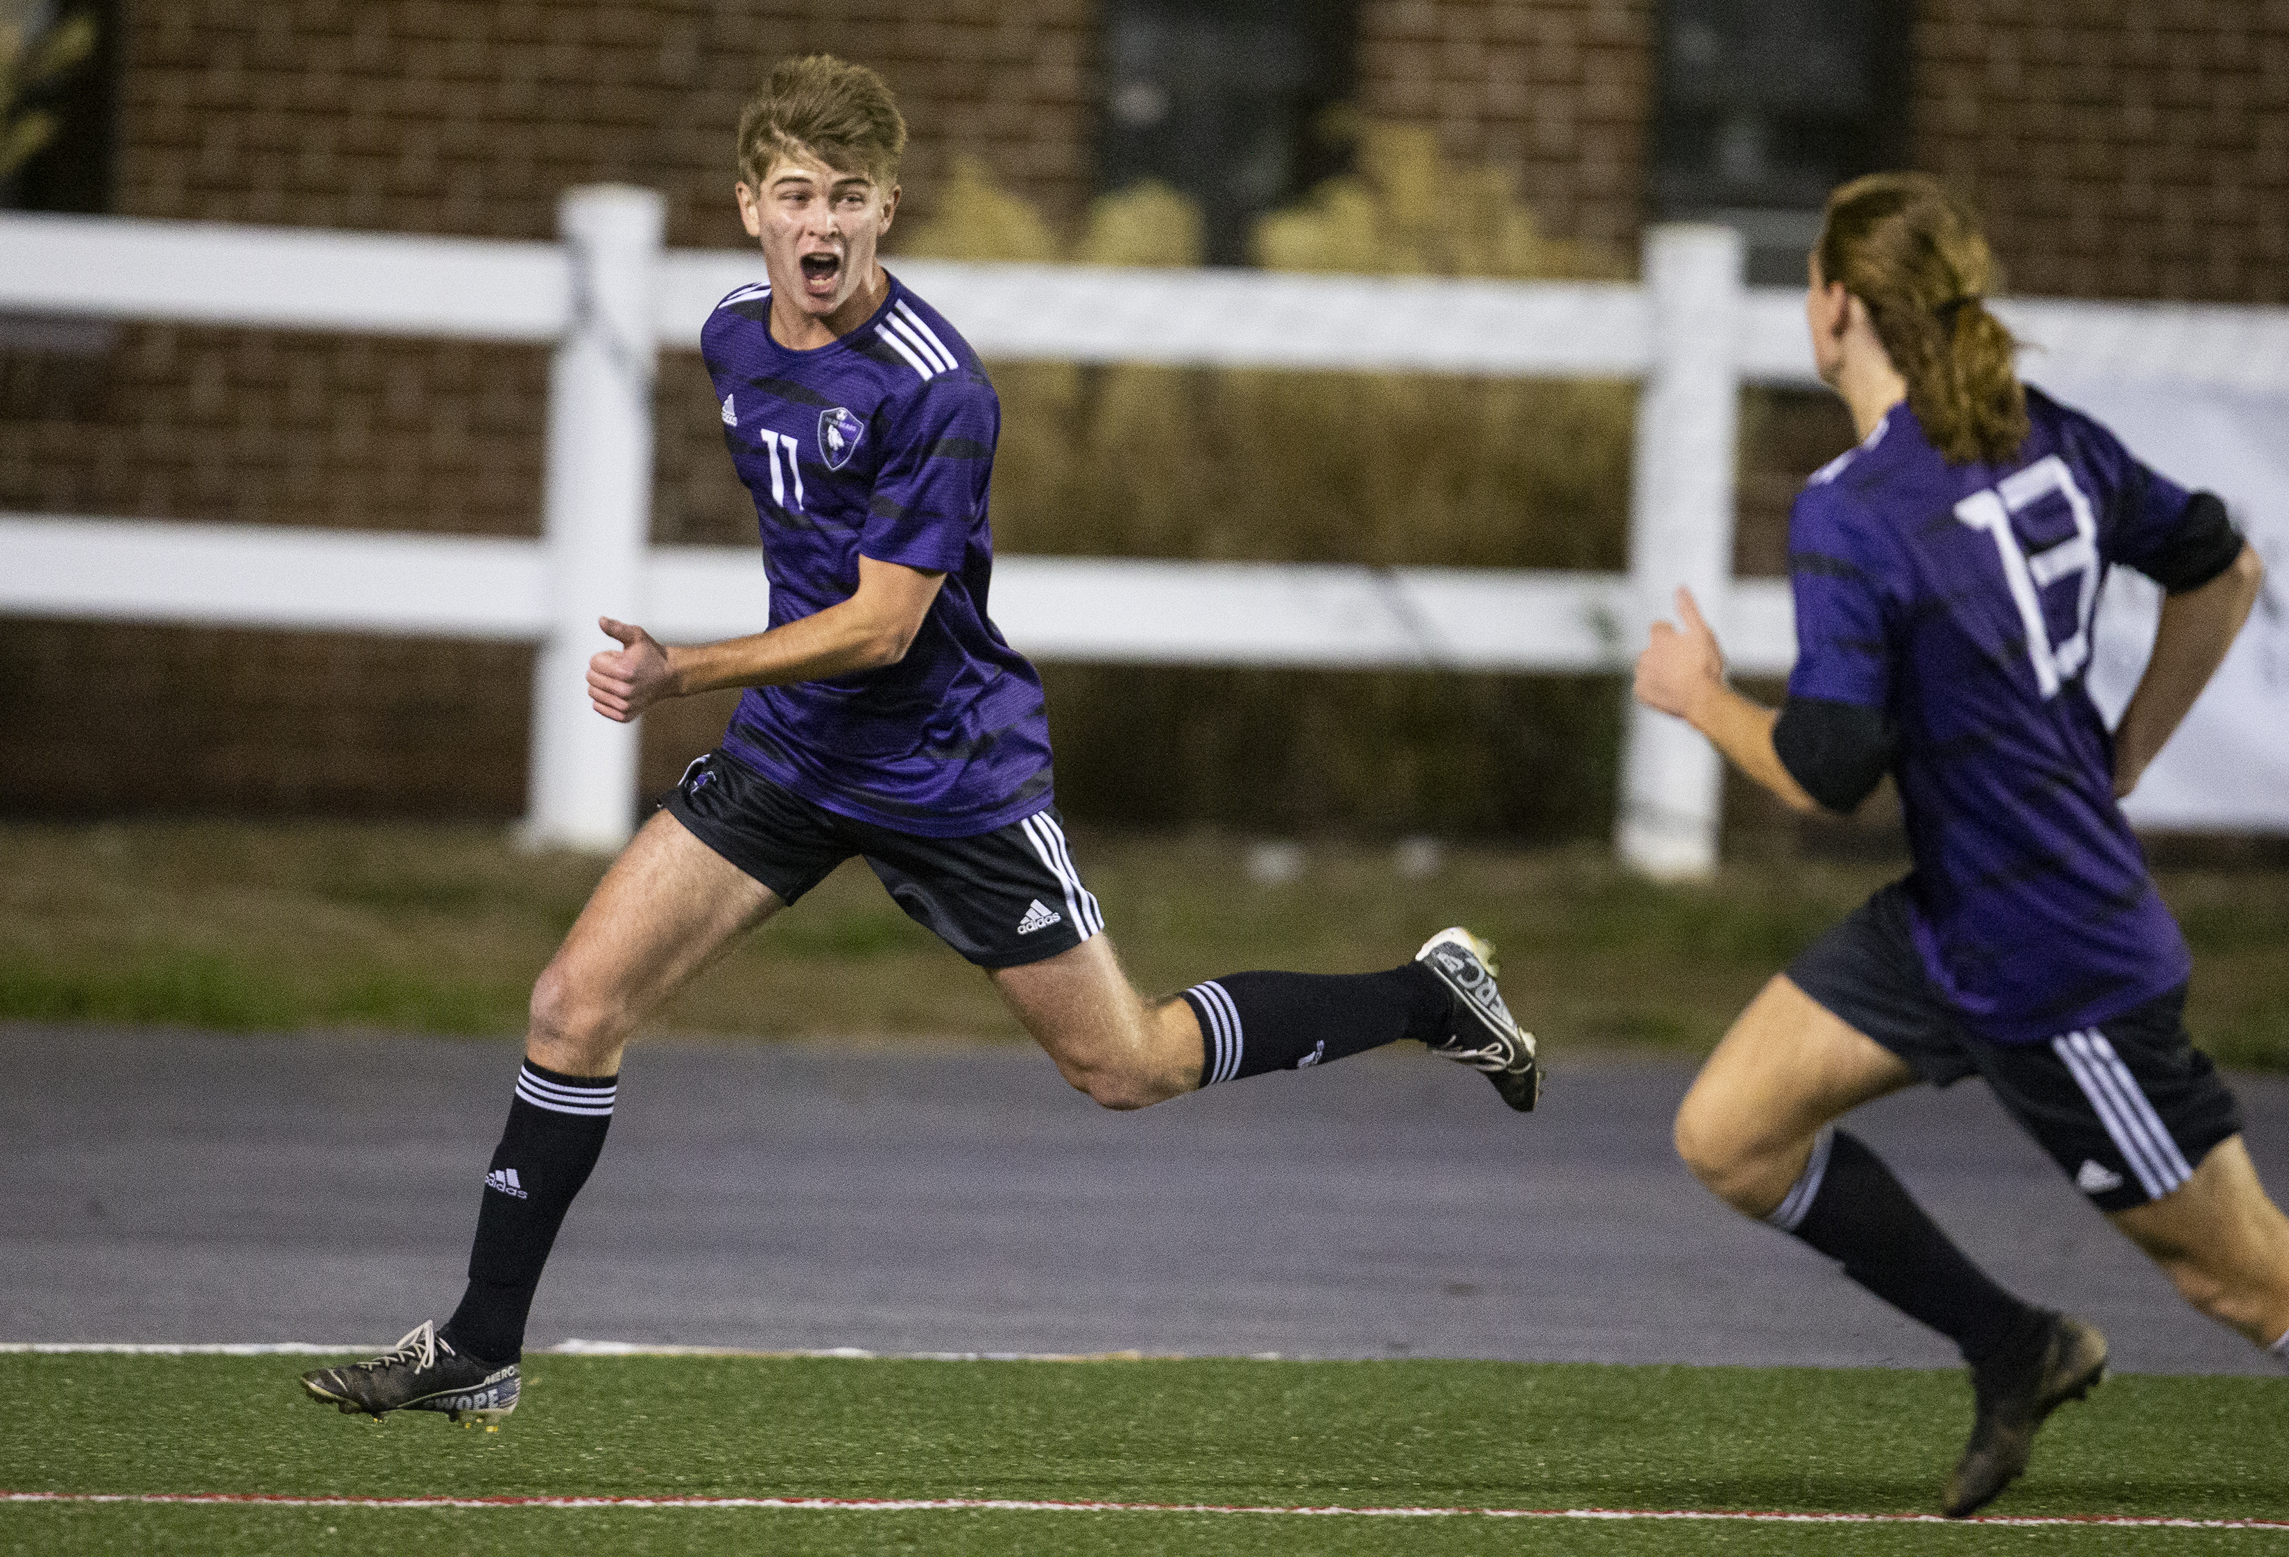
[{"label": "long brown hair tied in ponytail on number 13 player", "polygon": [[1813,254],[1868,305],[1932,446],[2010,460],[2028,433],[2019,343],[1987,311],[2001,270],[1971,208],[1927,174],[1868,174],[1829,195]]}]

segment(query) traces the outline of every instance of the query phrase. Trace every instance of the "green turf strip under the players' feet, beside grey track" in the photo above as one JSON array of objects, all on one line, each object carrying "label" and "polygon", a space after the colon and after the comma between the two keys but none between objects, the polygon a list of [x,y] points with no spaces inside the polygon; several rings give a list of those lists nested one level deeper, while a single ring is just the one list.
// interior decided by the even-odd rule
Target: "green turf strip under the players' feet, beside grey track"
[{"label": "green turf strip under the players' feet, beside grey track", "polygon": [[[2289,1530],[1790,1525],[1305,1507],[1902,1513],[1955,1374],[1515,1362],[531,1358],[499,1433],[309,1404],[307,1358],[0,1356],[37,1493],[835,1497],[1268,1511],[0,1504],[0,1550],[2211,1552]],[[2115,1378],[1998,1516],[2289,1518],[2273,1378]]]}]

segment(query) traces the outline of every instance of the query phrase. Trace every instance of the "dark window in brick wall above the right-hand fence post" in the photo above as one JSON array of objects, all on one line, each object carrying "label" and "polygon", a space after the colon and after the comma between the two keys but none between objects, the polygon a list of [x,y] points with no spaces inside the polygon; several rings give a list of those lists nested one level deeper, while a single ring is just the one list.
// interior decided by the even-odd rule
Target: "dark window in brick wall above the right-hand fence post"
[{"label": "dark window in brick wall above the right-hand fence post", "polygon": [[1662,0],[1653,213],[1749,238],[1804,279],[1831,188],[1907,149],[1914,0]]}]

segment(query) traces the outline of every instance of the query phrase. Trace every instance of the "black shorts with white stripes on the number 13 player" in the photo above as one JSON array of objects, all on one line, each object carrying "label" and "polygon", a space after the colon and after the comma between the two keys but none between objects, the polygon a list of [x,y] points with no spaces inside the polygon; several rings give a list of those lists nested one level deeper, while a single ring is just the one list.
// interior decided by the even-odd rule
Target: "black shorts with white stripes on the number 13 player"
[{"label": "black shorts with white stripes on the number 13 player", "polygon": [[1966,1033],[1923,971],[1902,882],[1879,888],[1788,964],[1829,1012],[1934,1088],[1985,1076],[1996,1099],[2101,1211],[2161,1200],[2241,1111],[2186,1035],[2186,987],[2033,1044]]}]

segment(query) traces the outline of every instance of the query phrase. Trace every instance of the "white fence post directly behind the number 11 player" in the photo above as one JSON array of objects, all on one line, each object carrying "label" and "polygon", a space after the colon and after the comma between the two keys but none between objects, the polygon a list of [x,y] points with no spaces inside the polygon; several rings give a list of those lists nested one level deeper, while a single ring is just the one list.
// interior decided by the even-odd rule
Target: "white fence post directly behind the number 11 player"
[{"label": "white fence post directly behind the number 11 player", "polygon": [[597,616],[643,621],[652,506],[655,190],[602,183],[556,206],[572,307],[549,364],[542,497],[549,625],[533,664],[524,840],[618,849],[636,817],[636,726],[588,708]]}]

